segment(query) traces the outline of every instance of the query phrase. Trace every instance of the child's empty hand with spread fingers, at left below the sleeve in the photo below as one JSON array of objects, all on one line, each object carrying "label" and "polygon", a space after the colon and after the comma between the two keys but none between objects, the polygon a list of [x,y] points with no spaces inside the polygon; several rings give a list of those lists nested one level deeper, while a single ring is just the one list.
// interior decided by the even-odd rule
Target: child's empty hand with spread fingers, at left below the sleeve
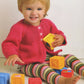
[{"label": "child's empty hand with spread fingers, at left below the sleeve", "polygon": [[4,65],[10,65],[12,63],[12,65],[14,66],[15,62],[18,61],[20,63],[24,63],[19,57],[18,55],[11,55],[9,56],[9,58],[6,60],[6,62],[4,63]]}]

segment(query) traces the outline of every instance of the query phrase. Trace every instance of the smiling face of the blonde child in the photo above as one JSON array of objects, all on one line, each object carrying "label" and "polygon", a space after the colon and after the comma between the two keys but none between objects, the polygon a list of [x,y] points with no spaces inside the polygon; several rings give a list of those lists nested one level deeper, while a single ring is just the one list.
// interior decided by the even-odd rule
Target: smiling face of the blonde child
[{"label": "smiling face of the blonde child", "polygon": [[33,4],[28,4],[26,2],[23,4],[21,12],[27,23],[34,26],[38,26],[40,24],[41,19],[44,18],[45,5],[43,5],[39,1]]}]

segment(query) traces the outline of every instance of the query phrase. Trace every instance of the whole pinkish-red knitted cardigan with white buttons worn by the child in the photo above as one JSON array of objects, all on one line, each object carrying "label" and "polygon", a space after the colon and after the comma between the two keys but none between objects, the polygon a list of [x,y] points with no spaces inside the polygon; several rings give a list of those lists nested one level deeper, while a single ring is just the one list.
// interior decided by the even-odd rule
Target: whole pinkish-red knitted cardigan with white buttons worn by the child
[{"label": "whole pinkish-red knitted cardigan with white buttons worn by the child", "polygon": [[[66,37],[64,33],[57,29],[55,24],[49,19],[42,19],[39,26],[33,26],[24,23],[24,19],[20,20],[12,26],[7,38],[2,43],[2,51],[6,58],[11,55],[18,55],[24,64],[35,62],[44,62],[46,53],[57,55],[58,50],[48,50],[42,42],[47,34],[54,33],[64,36],[66,44]],[[19,62],[17,64],[23,65]]]}]

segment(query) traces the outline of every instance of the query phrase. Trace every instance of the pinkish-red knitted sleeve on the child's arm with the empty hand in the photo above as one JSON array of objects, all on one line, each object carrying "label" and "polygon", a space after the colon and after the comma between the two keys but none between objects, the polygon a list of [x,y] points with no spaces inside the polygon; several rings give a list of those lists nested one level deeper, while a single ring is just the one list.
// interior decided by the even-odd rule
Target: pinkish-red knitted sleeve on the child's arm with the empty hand
[{"label": "pinkish-red knitted sleeve on the child's arm with the empty hand", "polygon": [[6,40],[2,42],[2,51],[6,58],[10,55],[18,55],[19,43],[22,38],[22,28],[12,26]]}]

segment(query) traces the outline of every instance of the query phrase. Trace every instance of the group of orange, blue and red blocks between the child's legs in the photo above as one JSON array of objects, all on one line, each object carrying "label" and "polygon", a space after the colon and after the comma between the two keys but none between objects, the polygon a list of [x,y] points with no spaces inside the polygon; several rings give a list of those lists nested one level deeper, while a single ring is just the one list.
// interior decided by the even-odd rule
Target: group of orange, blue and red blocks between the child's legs
[{"label": "group of orange, blue and red blocks between the child's legs", "polygon": [[62,56],[53,56],[50,58],[50,67],[53,68],[56,73],[64,77],[72,77],[73,70],[68,70],[65,66],[65,60]]}]

